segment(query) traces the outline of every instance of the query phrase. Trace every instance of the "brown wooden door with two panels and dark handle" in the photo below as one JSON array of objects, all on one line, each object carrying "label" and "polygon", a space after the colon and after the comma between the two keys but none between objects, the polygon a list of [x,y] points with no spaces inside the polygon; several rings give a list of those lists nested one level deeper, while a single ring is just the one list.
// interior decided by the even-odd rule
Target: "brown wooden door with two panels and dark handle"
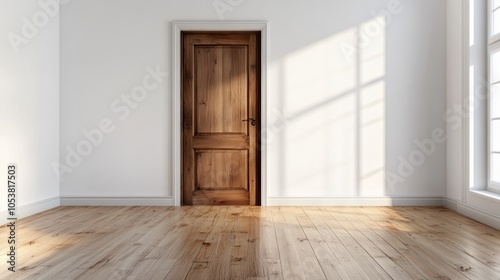
[{"label": "brown wooden door with two panels and dark handle", "polygon": [[259,33],[182,33],[182,201],[257,205]]}]

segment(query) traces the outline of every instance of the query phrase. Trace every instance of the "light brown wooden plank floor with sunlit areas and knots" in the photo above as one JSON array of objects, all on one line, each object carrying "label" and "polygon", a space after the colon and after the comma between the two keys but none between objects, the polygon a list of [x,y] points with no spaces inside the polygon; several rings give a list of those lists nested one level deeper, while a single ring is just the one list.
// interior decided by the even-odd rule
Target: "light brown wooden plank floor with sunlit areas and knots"
[{"label": "light brown wooden plank floor with sunlit areas and knots", "polygon": [[500,279],[500,232],[443,208],[59,207],[17,239],[0,279]]}]

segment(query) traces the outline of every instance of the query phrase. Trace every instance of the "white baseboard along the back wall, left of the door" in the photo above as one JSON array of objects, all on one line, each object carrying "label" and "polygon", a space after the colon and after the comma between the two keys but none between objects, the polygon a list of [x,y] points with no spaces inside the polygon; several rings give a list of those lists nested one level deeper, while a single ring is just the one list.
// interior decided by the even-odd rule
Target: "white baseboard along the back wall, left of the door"
[{"label": "white baseboard along the back wall, left of the door", "polygon": [[61,206],[173,206],[166,197],[61,197]]}]

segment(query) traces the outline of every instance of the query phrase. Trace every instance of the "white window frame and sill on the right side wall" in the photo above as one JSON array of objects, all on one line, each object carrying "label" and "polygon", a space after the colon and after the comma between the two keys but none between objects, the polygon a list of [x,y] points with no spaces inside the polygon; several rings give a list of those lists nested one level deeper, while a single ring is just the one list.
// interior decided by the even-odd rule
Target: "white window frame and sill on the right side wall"
[{"label": "white window frame and sill on the right side wall", "polygon": [[[447,207],[456,210],[470,218],[500,229],[500,193],[488,190],[488,43],[489,20],[487,18],[490,0],[449,0],[450,7],[459,9],[462,13],[459,28],[451,28],[453,44],[455,40],[462,42],[461,46],[453,45],[452,50],[460,51],[462,56],[460,71],[451,77],[461,81],[462,92],[459,105],[465,108],[464,121],[460,126],[462,135],[459,143],[462,158],[460,168],[463,170],[460,183],[462,193],[449,195]],[[455,11],[452,11],[455,12]],[[452,16],[453,13],[451,13]],[[454,19],[451,20],[455,22]],[[458,29],[461,33],[457,32]],[[453,58],[458,58],[454,53]],[[458,81],[458,79],[456,79]],[[455,98],[455,96],[452,96]],[[473,102],[473,103],[471,103]],[[471,104],[474,107],[471,107]],[[452,147],[453,150],[453,147]],[[458,166],[457,166],[458,167]],[[453,168],[453,167],[452,167]],[[453,169],[452,169],[453,170]],[[457,176],[457,174],[451,174]],[[457,182],[458,183],[458,182]],[[451,201],[451,202],[450,202]]]}]

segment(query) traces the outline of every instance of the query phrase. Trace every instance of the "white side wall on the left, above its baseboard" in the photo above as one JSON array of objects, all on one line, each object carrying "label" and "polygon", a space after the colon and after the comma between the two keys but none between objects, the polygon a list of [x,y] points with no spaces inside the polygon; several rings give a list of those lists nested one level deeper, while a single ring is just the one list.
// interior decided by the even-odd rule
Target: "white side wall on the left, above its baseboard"
[{"label": "white side wall on the left, above its baseboard", "polygon": [[59,19],[38,1],[1,1],[0,11],[0,176],[5,182],[7,165],[18,164],[22,217],[59,204],[51,167],[59,158]]}]

